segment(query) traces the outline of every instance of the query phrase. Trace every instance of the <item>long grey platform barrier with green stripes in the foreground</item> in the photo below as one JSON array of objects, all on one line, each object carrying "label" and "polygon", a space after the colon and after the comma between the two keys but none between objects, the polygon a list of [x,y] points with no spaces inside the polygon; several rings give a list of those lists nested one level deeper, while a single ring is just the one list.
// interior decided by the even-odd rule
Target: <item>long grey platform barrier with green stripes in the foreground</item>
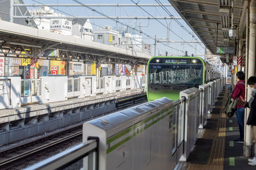
[{"label": "long grey platform barrier with green stripes in the foreground", "polygon": [[[207,113],[224,85],[225,79],[220,78],[199,89],[180,92],[177,101],[163,97],[86,122],[83,143],[99,139],[96,167],[102,170],[174,169],[177,162],[188,160],[198,129],[204,127]],[[58,161],[47,160],[47,165]],[[54,168],[65,167],[65,161],[59,161]],[[84,169],[88,169],[87,162],[83,159]]]}]

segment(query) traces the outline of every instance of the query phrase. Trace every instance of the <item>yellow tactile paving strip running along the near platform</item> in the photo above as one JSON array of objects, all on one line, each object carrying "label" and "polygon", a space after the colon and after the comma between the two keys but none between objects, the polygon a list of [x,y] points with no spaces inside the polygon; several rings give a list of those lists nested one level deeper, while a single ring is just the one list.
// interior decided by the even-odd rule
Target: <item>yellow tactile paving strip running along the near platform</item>
[{"label": "yellow tactile paving strip running along the near platform", "polygon": [[211,114],[210,118],[218,119],[216,130],[205,129],[202,138],[213,139],[212,148],[209,160],[207,164],[190,164],[188,165],[188,170],[197,169],[207,169],[207,170],[223,170],[224,163],[224,153],[225,153],[225,136],[226,136],[226,116],[224,113],[224,104],[227,99],[228,88],[226,87],[225,93],[221,106],[216,106],[215,108],[221,109],[221,114]]}]

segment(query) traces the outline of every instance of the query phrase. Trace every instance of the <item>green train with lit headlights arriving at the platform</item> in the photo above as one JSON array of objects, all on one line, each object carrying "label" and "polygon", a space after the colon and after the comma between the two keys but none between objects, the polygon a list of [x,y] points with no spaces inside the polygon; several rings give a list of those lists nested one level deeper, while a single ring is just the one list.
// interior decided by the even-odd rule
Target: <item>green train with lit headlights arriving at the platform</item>
[{"label": "green train with lit headlights arriving at the platform", "polygon": [[147,99],[179,99],[179,93],[220,78],[218,69],[200,57],[152,57],[147,64]]}]

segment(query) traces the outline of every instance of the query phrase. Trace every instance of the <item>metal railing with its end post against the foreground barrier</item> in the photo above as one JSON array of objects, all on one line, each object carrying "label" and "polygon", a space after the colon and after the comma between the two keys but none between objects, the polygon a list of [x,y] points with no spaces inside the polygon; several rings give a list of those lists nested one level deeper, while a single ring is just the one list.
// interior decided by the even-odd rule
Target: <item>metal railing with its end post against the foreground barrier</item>
[{"label": "metal railing with its end post against the foreground barrier", "polygon": [[84,169],[98,170],[99,139],[90,139],[85,143],[69,148],[26,170],[31,169]]}]

